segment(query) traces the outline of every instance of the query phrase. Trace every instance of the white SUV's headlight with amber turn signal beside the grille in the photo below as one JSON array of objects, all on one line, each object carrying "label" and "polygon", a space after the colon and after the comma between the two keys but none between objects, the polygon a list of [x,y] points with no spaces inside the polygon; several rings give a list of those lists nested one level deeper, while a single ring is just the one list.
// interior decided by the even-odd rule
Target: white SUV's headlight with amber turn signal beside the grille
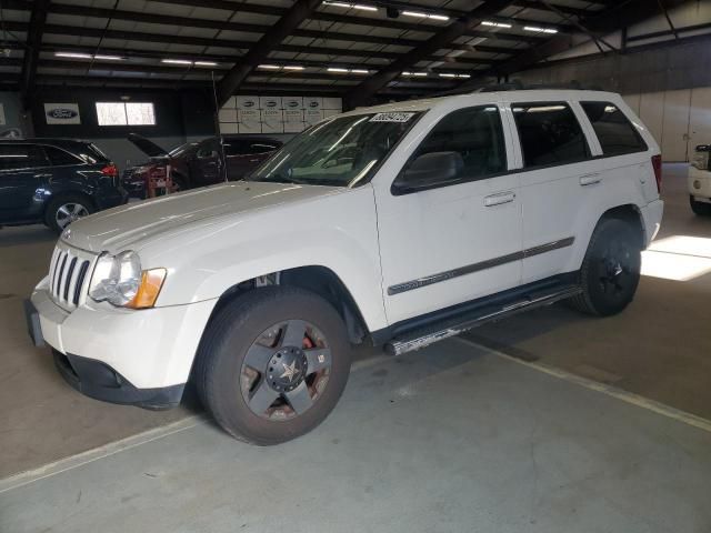
[{"label": "white SUV's headlight with amber turn signal beside the grille", "polygon": [[152,308],[166,279],[166,269],[141,270],[138,253],[102,253],[89,284],[89,296],[117,306]]}]

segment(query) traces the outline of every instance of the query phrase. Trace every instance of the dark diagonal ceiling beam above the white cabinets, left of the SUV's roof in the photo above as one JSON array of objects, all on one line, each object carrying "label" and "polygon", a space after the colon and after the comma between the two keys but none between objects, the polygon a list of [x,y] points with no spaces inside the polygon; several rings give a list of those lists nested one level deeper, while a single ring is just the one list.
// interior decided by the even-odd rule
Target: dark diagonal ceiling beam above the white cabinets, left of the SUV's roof
[{"label": "dark diagonal ceiling beam above the white cabinets, left of the SUV's roof", "polygon": [[311,16],[321,0],[297,0],[291,8],[247,52],[242,61],[224,74],[217,87],[218,105],[222,105],[237,91],[250,72],[263,62],[269,53]]}]

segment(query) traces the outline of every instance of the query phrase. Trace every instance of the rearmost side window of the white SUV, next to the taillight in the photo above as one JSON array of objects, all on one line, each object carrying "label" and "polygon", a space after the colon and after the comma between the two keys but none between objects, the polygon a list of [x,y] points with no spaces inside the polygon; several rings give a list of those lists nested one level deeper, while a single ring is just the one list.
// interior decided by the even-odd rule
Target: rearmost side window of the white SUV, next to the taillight
[{"label": "rearmost side window of the white SUV, next to the taillight", "polygon": [[647,143],[617,105],[610,102],[580,102],[595,130],[604,155],[645,152]]}]

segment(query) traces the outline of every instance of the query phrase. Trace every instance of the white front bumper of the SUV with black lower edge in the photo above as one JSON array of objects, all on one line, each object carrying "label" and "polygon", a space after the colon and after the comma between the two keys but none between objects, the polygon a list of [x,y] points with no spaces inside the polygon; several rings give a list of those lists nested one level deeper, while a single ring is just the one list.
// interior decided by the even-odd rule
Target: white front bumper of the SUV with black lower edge
[{"label": "white front bumper of the SUV with black lower edge", "polygon": [[46,279],[26,315],[34,343],[53,349],[71,386],[97,400],[164,409],[180,403],[216,302],[141,311],[84,304],[68,312],[51,300]]}]

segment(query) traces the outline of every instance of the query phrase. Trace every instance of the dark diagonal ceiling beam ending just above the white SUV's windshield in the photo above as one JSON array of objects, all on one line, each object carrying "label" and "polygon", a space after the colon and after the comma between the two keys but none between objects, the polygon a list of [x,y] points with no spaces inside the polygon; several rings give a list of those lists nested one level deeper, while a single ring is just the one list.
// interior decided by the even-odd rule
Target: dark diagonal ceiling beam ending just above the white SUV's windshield
[{"label": "dark diagonal ceiling beam ending just above the white SUV's windshield", "polygon": [[509,7],[510,3],[511,0],[490,0],[471,10],[469,14],[444,27],[441,31],[422,42],[418,48],[411,50],[407,56],[393,61],[363,81],[356,89],[351,90],[347,94],[347,104],[349,107],[357,107],[368,102],[375,92],[398,78],[403,71],[410,70],[412,66],[429,58],[438,50],[447,48],[452,41],[467,33],[473,26],[479,24],[482,19],[497,14],[502,9]]}]

